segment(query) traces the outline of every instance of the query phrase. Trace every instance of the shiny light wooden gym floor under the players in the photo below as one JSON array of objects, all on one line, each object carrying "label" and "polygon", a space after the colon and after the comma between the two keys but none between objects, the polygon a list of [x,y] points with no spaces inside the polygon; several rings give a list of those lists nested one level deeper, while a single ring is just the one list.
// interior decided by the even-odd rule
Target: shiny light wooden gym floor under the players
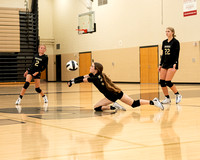
[{"label": "shiny light wooden gym floor under the players", "polygon": [[[134,99],[163,99],[158,85],[117,84]],[[198,160],[200,85],[177,85],[183,95],[161,111],[154,106],[127,111],[93,111],[103,96],[91,84],[41,84],[48,105],[31,84],[0,85],[1,160]]]}]

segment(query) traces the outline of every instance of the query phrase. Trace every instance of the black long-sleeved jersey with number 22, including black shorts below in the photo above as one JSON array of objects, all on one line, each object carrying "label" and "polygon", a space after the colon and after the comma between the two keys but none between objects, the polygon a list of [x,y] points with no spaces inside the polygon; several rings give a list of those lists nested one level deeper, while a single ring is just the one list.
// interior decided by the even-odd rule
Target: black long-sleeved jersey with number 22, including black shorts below
[{"label": "black long-sleeved jersey with number 22, including black shorts below", "polygon": [[176,69],[178,69],[178,58],[180,52],[179,41],[173,38],[170,42],[168,39],[164,40],[162,43],[163,54],[161,57],[160,65],[162,68],[173,68],[176,64]]}]

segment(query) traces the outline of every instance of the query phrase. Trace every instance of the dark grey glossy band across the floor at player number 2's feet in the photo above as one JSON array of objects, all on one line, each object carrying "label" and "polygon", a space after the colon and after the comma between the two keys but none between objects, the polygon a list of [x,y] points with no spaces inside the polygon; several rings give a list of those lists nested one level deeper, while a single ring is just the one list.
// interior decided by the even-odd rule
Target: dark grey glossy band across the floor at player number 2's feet
[{"label": "dark grey glossy band across the floor at player number 2's feet", "polygon": [[[19,114],[21,117],[31,117],[43,120],[50,119],[76,119],[76,118],[90,118],[97,116],[106,116],[114,114],[111,112],[94,112],[91,109],[85,109],[78,106],[49,106],[48,103],[41,104],[39,107],[23,107],[23,105],[16,105],[13,108],[0,108],[0,113]],[[20,118],[21,119],[21,118]],[[23,121],[22,121],[23,122]]]}]

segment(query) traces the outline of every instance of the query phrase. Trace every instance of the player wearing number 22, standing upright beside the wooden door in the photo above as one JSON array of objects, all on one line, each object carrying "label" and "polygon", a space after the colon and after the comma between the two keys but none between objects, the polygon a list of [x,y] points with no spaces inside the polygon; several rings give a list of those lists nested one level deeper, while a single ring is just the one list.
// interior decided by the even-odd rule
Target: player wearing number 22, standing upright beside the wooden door
[{"label": "player wearing number 22, standing upright beside the wooden door", "polygon": [[162,103],[171,103],[171,99],[169,97],[167,89],[168,86],[174,92],[176,96],[176,104],[178,104],[181,101],[182,96],[179,94],[176,86],[171,82],[171,80],[178,70],[180,44],[179,41],[175,39],[174,28],[168,27],[166,29],[166,36],[168,37],[168,39],[164,40],[162,43],[163,54],[158,69],[160,72],[160,85],[165,95],[165,99],[162,101]]}]

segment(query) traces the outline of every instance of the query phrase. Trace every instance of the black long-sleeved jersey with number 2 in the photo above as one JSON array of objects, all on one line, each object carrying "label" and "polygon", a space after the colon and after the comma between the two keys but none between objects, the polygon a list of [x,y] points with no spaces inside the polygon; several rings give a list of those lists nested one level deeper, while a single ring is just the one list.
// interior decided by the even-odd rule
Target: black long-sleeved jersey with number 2
[{"label": "black long-sleeved jersey with number 2", "polygon": [[47,55],[44,54],[42,56],[39,56],[39,54],[35,54],[33,57],[33,62],[31,66],[28,68],[28,70],[31,71],[32,73],[42,72],[43,70],[45,70],[45,68],[47,68],[47,64],[48,64]]}]

